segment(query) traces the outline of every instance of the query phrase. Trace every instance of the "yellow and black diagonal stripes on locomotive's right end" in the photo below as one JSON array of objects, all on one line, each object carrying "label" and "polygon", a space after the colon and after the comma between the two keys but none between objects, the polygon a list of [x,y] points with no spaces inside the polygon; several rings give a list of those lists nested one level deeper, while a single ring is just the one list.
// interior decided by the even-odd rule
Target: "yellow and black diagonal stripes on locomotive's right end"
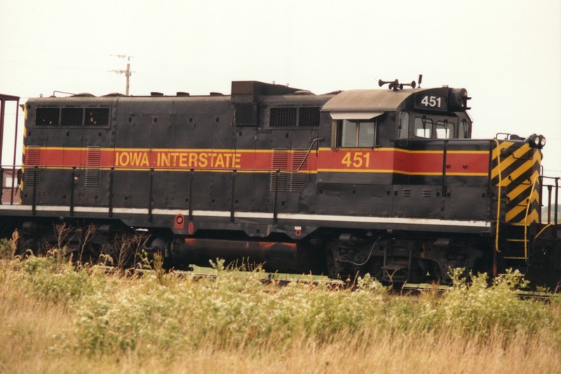
[{"label": "yellow and black diagonal stripes on locomotive's right end", "polygon": [[[506,196],[504,222],[539,222],[541,151],[527,142],[497,140],[492,154],[492,182]],[[500,218],[500,217],[499,217]]]}]

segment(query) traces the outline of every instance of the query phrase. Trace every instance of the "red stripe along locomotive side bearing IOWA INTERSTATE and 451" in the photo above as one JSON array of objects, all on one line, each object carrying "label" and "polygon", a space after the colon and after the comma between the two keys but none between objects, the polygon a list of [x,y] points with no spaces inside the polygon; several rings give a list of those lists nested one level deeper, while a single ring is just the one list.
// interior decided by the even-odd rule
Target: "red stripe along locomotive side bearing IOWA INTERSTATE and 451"
[{"label": "red stripe along locomotive side bearing IOWA INTERSTATE and 451", "polygon": [[[201,151],[182,149],[170,151],[101,149],[100,168],[196,168],[238,169],[240,171],[270,171],[273,151],[248,150]],[[292,157],[295,157],[293,160]],[[354,171],[411,174],[441,174],[442,152],[403,152],[398,149],[320,149],[312,151],[303,163],[302,171]],[[295,171],[302,163],[294,152],[288,152],[284,171]],[[39,166],[86,167],[87,149],[41,148]],[[29,164],[28,164],[29,165]],[[446,173],[487,174],[487,152],[449,152],[446,156]]]}]

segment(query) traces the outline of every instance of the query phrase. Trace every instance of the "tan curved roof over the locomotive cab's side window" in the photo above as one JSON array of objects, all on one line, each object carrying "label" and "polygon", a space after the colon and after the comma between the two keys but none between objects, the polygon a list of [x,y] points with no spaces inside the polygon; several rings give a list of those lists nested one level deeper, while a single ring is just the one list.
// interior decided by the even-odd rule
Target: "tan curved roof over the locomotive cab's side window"
[{"label": "tan curved roof over the locomotive cab's side window", "polygon": [[[321,108],[322,112],[331,112],[332,116],[353,113],[395,112],[399,105],[418,89],[402,91],[388,90],[349,90],[335,95]],[[333,117],[334,118],[334,117]],[[346,117],[347,119],[349,117]],[[369,117],[373,118],[373,117]],[[359,118],[356,118],[359,119]],[[365,119],[362,117],[361,119]]]}]

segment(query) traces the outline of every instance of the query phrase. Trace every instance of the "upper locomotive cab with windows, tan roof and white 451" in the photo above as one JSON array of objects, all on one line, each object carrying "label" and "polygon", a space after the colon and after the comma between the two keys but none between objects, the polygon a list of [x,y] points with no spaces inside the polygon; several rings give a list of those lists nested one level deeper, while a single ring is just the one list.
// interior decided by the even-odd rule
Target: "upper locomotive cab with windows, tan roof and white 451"
[{"label": "upper locomotive cab with windows, tan roof and white 451", "polygon": [[332,149],[390,147],[398,139],[469,139],[464,88],[344,91],[322,110],[332,117]]}]

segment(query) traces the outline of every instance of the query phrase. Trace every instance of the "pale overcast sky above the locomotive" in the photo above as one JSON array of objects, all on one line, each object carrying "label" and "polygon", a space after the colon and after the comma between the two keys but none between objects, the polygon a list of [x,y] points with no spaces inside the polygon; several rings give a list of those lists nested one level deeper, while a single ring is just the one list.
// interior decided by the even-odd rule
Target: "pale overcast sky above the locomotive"
[{"label": "pale overcast sky above the locomotive", "polygon": [[468,90],[474,138],[545,135],[544,168],[561,175],[559,0],[0,2],[0,93],[124,93],[109,71],[126,60],[111,55],[133,56],[131,95],[236,80],[327,93],[423,74],[423,87]]}]

